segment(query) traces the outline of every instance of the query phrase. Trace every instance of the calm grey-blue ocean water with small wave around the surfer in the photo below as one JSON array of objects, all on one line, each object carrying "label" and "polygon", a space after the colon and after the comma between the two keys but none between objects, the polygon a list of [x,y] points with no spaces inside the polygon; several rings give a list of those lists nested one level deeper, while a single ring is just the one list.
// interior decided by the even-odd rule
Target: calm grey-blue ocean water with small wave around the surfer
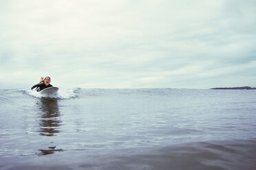
[{"label": "calm grey-blue ocean water with small wave around the surfer", "polygon": [[0,169],[256,169],[256,90],[0,90]]}]

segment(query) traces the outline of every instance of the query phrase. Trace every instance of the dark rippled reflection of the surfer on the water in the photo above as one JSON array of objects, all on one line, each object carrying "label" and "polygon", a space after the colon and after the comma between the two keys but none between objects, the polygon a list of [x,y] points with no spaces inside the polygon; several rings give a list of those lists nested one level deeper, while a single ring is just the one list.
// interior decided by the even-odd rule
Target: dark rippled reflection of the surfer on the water
[{"label": "dark rippled reflection of the surfer on the water", "polygon": [[[40,125],[40,135],[41,136],[56,136],[58,132],[58,127],[61,125],[60,112],[58,110],[58,99],[54,98],[41,98],[39,103],[39,108],[41,112]],[[50,142],[50,147],[47,149],[39,149],[41,154],[54,154],[54,151],[62,151],[62,149],[55,149],[56,145],[54,142]]]}]

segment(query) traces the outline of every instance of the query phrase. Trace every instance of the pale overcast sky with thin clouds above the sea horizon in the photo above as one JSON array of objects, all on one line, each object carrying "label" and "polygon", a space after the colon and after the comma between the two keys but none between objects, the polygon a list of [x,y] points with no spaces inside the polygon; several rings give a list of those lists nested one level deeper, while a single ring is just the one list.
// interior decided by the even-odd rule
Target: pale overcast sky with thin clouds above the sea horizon
[{"label": "pale overcast sky with thin clouds above the sea horizon", "polygon": [[256,1],[0,1],[0,88],[256,86]]}]

